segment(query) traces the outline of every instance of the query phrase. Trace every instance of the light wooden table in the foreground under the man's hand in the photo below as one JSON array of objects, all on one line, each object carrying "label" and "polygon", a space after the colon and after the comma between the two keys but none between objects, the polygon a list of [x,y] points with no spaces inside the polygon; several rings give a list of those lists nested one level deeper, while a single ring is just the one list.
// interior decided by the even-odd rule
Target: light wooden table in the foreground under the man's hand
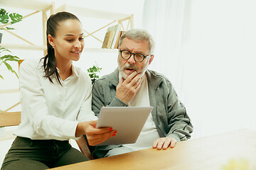
[{"label": "light wooden table in the foreground under the man's hand", "polygon": [[256,131],[236,130],[220,135],[178,142],[173,149],[143,149],[114,157],[60,166],[73,169],[220,169],[235,163],[256,169]]}]

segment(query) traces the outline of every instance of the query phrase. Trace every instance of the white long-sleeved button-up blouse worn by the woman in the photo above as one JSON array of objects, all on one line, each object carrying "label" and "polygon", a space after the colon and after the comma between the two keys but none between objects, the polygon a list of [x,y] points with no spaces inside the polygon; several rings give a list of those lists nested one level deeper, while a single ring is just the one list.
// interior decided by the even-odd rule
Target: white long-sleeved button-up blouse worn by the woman
[{"label": "white long-sleeved button-up blouse worn by the woman", "polygon": [[58,84],[44,77],[43,60],[25,60],[19,69],[21,124],[14,132],[32,140],[77,139],[78,122],[97,120],[92,112],[90,77],[72,67],[73,74]]}]

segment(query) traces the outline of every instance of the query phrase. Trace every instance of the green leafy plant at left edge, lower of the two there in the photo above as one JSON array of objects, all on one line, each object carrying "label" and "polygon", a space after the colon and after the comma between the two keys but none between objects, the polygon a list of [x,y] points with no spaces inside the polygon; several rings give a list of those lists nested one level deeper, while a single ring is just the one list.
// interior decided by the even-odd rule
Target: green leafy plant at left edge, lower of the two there
[{"label": "green leafy plant at left edge, lower of the two there", "polygon": [[[10,50],[7,50],[4,47],[0,46],[0,66],[1,64],[5,64],[7,69],[11,71],[12,73],[16,74],[16,77],[18,78],[18,74],[12,69],[11,65],[8,62],[18,62],[20,63],[21,61],[19,60],[19,57],[14,56],[14,55],[3,55],[4,52],[11,53]],[[4,77],[0,74],[1,79],[4,79]]]}]

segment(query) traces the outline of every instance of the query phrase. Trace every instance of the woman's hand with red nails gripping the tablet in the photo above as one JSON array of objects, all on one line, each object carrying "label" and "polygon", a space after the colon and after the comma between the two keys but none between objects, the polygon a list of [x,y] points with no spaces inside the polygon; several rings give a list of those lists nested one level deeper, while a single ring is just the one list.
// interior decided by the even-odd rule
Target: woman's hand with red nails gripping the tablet
[{"label": "woman's hand with red nails gripping the tablet", "polygon": [[115,136],[117,131],[112,128],[96,128],[97,120],[78,123],[76,136],[86,135],[89,145],[97,145],[110,137]]}]

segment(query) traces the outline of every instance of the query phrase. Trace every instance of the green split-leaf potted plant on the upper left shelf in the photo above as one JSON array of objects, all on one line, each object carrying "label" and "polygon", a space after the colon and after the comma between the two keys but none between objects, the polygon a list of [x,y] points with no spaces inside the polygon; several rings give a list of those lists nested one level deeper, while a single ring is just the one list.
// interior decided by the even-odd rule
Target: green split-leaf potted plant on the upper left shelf
[{"label": "green split-leaf potted plant on the upper left shelf", "polygon": [[[23,16],[18,13],[9,13],[4,8],[0,9],[0,30],[14,30],[14,28],[3,26],[6,23],[14,24],[21,21]],[[0,33],[0,43],[2,38],[2,33]]]}]

